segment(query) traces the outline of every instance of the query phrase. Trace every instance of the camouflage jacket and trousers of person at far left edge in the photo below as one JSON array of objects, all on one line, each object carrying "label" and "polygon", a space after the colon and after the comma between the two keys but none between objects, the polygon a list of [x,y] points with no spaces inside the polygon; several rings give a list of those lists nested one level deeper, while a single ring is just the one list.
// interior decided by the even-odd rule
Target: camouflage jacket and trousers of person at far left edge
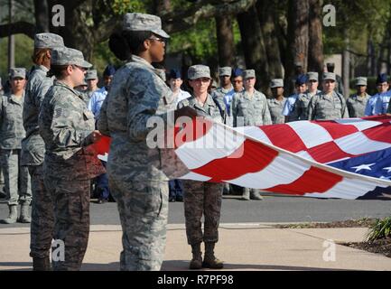
[{"label": "camouflage jacket and trousers of person at far left edge", "polygon": [[9,206],[20,201],[30,205],[32,200],[30,175],[26,167],[21,165],[21,142],[25,136],[22,113],[22,97],[13,94],[0,97],[0,163],[4,168],[5,192]]}]

